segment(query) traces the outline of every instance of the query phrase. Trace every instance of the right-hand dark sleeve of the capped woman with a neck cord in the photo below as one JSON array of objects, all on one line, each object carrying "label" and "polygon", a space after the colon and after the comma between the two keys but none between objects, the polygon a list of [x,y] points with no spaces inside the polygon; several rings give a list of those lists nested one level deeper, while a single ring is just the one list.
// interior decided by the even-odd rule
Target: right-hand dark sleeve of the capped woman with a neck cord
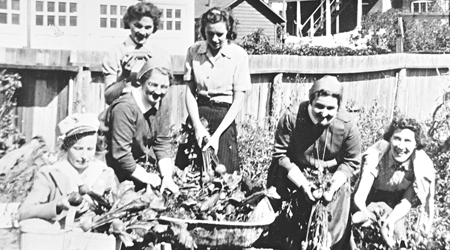
[{"label": "right-hand dark sleeve of the capped woman with a neck cord", "polygon": [[361,143],[359,130],[356,127],[356,124],[353,121],[349,121],[347,125],[350,128],[339,153],[339,156],[343,161],[337,167],[337,170],[349,177],[360,165]]}]

